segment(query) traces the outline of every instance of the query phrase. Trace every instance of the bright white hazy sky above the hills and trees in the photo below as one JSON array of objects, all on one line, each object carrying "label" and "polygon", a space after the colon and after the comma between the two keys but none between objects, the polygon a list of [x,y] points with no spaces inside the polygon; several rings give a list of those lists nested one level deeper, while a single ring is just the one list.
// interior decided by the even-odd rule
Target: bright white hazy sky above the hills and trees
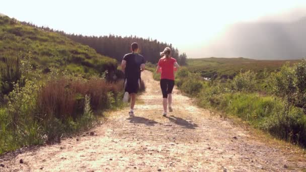
[{"label": "bright white hazy sky above the hills and trees", "polygon": [[[305,0],[1,0],[0,13],[83,35],[136,35],[172,43],[189,57],[230,24],[289,14]],[[293,19],[292,19],[293,20]]]}]

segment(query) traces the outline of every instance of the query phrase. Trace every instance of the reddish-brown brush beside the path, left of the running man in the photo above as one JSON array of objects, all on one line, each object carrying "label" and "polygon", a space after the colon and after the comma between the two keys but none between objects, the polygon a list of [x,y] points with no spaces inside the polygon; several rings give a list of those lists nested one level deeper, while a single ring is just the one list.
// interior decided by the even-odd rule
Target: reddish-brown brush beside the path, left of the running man
[{"label": "reddish-brown brush beside the path, left of the running man", "polygon": [[[82,77],[71,79],[66,76],[51,79],[40,92],[39,106],[42,114],[65,120],[68,117],[77,119],[83,112],[86,95],[91,97],[94,111],[110,108],[111,97],[117,99],[121,83],[109,83],[103,78]],[[111,96],[109,94],[112,93]]]}]

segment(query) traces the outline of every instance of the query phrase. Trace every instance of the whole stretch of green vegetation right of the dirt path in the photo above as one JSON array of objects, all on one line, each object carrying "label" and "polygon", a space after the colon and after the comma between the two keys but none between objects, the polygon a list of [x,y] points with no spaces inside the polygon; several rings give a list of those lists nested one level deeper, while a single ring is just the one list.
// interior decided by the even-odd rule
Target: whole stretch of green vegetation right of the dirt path
[{"label": "whole stretch of green vegetation right of the dirt path", "polygon": [[[237,59],[230,61],[227,59],[227,63],[234,64]],[[175,82],[181,91],[195,97],[200,107],[238,116],[272,136],[306,147],[306,60],[279,61],[278,64],[264,62],[261,60],[261,67],[256,70],[244,68],[244,71],[238,64],[227,66],[229,70],[237,71],[233,79],[216,77],[208,80],[202,76],[205,71],[192,70],[198,64],[193,67],[194,63],[188,63],[177,72]],[[243,62],[240,64],[246,67]],[[283,65],[277,68],[280,64]],[[265,69],[268,66],[274,66],[274,70]],[[152,71],[154,68],[154,65],[150,66]],[[216,68],[212,66],[212,69]],[[221,67],[217,69],[221,70]],[[160,79],[160,74],[154,73],[154,78]]]}]

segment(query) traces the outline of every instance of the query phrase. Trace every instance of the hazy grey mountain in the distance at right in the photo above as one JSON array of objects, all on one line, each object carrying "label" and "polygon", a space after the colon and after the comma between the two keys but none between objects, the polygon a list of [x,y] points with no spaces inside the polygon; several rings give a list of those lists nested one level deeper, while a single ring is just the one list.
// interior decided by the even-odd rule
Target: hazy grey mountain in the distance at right
[{"label": "hazy grey mountain in the distance at right", "polygon": [[238,23],[205,48],[220,57],[301,59],[306,57],[305,45],[306,17],[286,23]]}]

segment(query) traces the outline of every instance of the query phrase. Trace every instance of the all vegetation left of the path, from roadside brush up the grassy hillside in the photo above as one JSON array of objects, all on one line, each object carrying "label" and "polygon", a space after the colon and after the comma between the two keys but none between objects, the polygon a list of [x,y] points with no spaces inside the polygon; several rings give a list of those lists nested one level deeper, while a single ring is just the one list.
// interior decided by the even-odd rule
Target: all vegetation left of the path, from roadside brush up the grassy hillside
[{"label": "all vegetation left of the path, from roadside brush up the grassy hillside", "polygon": [[0,24],[0,154],[60,142],[122,106],[115,59],[15,19]]}]

